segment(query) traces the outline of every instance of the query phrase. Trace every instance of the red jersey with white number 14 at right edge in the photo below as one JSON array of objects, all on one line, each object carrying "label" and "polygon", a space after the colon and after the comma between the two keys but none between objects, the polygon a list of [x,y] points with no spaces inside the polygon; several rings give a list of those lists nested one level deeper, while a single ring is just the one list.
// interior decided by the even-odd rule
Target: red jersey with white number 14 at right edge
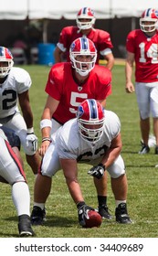
[{"label": "red jersey with white number 14 at right edge", "polygon": [[153,37],[135,29],[127,36],[126,49],[135,55],[135,80],[154,82],[158,80],[158,33]]}]

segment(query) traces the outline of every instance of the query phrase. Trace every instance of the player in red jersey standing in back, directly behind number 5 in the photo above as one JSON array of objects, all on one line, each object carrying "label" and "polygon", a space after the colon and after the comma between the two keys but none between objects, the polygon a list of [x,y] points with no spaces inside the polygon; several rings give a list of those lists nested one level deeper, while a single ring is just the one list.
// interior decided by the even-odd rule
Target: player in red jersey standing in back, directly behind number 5
[{"label": "player in red jersey standing in back, directly behind number 5", "polygon": [[79,37],[88,37],[93,41],[97,48],[98,55],[96,64],[99,64],[100,56],[107,60],[107,68],[112,69],[114,64],[113,54],[111,48],[111,36],[108,32],[94,28],[95,15],[93,10],[88,7],[81,8],[77,15],[77,27],[64,27],[60,33],[57,48],[54,51],[55,62],[61,62],[61,55],[66,54],[69,61],[69,47],[71,43]]}]

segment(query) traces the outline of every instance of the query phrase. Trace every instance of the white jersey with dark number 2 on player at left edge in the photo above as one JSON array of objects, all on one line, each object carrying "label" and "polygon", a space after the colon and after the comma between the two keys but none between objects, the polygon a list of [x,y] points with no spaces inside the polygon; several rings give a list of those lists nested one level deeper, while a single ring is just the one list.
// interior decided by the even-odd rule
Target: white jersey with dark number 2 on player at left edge
[{"label": "white jersey with dark number 2 on player at left edge", "polygon": [[0,119],[13,115],[17,110],[18,94],[27,91],[32,80],[25,69],[13,67],[5,82],[0,84]]}]

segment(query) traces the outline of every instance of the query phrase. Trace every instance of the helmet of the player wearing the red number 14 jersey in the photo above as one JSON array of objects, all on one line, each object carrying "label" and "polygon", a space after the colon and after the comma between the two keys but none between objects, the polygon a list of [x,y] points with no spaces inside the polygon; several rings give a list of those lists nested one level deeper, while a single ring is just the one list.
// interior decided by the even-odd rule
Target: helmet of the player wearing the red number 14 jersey
[{"label": "helmet of the player wearing the red number 14 jersey", "polygon": [[[145,10],[140,18],[141,30],[145,33],[153,32],[157,27],[158,11],[152,8]],[[145,22],[152,22],[152,24],[145,24]]]}]

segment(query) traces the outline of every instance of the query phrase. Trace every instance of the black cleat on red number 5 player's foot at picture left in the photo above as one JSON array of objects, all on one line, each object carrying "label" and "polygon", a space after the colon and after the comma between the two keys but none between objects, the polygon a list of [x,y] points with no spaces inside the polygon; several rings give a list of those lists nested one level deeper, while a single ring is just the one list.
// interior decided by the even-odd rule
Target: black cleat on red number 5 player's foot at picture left
[{"label": "black cleat on red number 5 player's foot at picture left", "polygon": [[46,221],[46,209],[43,210],[39,207],[33,207],[31,213],[31,223],[32,225],[42,225]]}]

